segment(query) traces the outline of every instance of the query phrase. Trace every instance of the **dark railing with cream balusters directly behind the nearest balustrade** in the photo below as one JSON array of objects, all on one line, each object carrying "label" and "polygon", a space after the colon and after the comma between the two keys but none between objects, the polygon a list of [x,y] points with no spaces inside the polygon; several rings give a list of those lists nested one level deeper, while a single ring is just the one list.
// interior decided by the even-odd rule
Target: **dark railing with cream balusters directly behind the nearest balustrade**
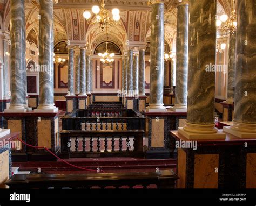
[{"label": "dark railing with cream balusters directly behind the nearest balustrade", "polygon": [[63,130],[145,130],[145,116],[129,109],[75,110],[62,118]]}]

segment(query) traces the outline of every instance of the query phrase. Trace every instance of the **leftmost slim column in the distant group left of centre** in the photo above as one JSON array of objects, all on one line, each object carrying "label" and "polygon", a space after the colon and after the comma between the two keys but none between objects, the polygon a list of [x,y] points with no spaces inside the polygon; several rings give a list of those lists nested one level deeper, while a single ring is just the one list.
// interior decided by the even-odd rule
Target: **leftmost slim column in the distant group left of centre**
[{"label": "leftmost slim column in the distant group left of centre", "polygon": [[68,95],[73,96],[74,92],[74,49],[69,48],[69,59],[68,59]]}]

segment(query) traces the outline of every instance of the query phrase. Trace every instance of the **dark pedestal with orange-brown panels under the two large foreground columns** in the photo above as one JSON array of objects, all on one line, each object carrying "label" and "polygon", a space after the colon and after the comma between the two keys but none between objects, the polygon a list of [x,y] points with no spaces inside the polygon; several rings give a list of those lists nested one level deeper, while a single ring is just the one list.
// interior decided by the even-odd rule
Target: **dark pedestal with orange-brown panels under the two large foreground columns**
[{"label": "dark pedestal with orange-brown panels under the two large foreground columns", "polygon": [[256,188],[256,139],[224,132],[226,139],[191,141],[177,131],[170,133],[178,147],[178,188]]}]

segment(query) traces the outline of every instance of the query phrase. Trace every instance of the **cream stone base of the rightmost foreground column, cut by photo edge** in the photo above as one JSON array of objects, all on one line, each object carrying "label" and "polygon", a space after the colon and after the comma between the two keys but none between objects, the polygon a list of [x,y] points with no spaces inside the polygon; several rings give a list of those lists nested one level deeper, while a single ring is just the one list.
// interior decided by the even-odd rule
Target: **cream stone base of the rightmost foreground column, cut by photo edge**
[{"label": "cream stone base of the rightmost foreground column, cut by photo edge", "polygon": [[239,138],[256,138],[256,124],[233,123],[230,127],[223,127],[223,131]]}]

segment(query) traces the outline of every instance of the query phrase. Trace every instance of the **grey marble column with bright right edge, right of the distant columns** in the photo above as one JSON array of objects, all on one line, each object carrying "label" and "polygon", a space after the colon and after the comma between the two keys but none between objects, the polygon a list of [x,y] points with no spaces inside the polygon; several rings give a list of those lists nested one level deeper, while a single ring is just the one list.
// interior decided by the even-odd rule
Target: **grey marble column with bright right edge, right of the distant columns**
[{"label": "grey marble column with bright right edge, right of the distant columns", "polygon": [[152,4],[149,109],[165,109],[164,95],[164,3]]}]

